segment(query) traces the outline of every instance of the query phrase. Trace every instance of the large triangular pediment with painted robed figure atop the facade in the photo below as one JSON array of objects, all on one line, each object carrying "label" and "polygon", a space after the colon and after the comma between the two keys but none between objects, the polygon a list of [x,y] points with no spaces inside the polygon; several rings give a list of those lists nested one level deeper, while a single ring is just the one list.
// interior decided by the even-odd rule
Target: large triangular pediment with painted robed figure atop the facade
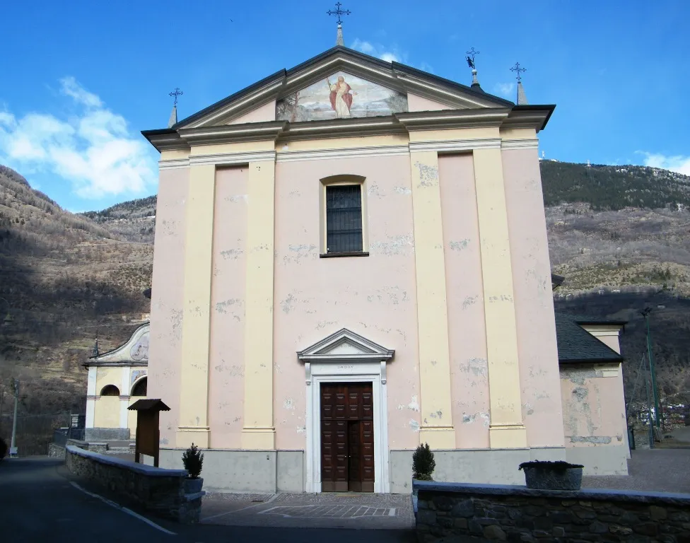
[{"label": "large triangular pediment with painted robed figure atop the facade", "polygon": [[[339,80],[340,77],[343,79]],[[398,62],[385,62],[347,47],[333,47],[182,119],[172,128],[328,120],[345,118],[346,114],[375,117],[419,111],[410,104],[458,110],[514,105]]]}]

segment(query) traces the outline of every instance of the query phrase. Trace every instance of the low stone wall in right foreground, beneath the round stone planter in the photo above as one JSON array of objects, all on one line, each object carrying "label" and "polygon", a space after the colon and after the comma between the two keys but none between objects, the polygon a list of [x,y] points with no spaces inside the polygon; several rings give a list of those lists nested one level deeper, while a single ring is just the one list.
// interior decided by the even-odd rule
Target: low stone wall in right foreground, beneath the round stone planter
[{"label": "low stone wall in right foreground, beneath the round stone planter", "polygon": [[454,536],[527,543],[690,543],[690,494],[431,481],[414,481],[413,488],[422,543]]}]

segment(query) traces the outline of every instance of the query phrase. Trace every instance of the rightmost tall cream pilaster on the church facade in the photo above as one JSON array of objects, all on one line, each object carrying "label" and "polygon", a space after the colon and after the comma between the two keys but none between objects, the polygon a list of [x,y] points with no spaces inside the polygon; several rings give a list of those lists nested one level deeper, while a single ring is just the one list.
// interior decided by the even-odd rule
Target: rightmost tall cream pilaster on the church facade
[{"label": "rightmost tall cream pilaster on the church facade", "polygon": [[475,148],[473,153],[489,356],[489,443],[491,448],[526,447],[501,148]]}]

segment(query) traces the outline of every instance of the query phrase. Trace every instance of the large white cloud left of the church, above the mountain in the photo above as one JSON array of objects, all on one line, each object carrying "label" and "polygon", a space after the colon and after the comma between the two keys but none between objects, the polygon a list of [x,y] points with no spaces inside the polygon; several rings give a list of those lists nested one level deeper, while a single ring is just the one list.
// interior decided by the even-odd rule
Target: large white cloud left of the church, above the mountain
[{"label": "large white cloud left of the church, above the mountain", "polygon": [[31,112],[17,118],[0,111],[0,162],[59,175],[83,198],[150,190],[156,165],[146,142],[74,77],[60,83],[62,95],[76,105],[76,115]]}]

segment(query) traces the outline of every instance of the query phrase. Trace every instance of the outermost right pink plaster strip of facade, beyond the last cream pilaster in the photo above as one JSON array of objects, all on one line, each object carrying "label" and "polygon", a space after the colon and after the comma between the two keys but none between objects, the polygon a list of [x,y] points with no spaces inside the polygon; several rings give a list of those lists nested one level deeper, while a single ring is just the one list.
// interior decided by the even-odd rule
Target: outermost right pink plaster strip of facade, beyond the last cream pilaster
[{"label": "outermost right pink plaster strip of facade, beyond the last cream pilaster", "polygon": [[562,446],[559,356],[539,156],[537,149],[508,149],[501,156],[527,444]]}]

